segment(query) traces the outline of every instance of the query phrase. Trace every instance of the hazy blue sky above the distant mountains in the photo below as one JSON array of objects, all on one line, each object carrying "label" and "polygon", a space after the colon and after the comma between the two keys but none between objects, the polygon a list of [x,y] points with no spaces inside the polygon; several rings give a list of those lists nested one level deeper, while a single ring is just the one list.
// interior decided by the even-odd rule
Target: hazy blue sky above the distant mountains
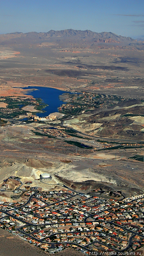
[{"label": "hazy blue sky above the distant mountains", "polygon": [[144,0],[0,0],[0,33],[89,29],[144,35]]}]

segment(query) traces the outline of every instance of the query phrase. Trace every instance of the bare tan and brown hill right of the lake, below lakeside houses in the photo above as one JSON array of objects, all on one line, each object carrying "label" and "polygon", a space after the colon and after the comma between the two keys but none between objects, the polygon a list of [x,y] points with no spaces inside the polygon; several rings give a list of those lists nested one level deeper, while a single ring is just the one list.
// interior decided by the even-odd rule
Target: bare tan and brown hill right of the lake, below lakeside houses
[{"label": "bare tan and brown hill right of the lake, below lakeside houses", "polygon": [[105,138],[144,140],[143,112],[143,102],[129,100],[109,108],[85,112],[64,123],[80,132]]}]

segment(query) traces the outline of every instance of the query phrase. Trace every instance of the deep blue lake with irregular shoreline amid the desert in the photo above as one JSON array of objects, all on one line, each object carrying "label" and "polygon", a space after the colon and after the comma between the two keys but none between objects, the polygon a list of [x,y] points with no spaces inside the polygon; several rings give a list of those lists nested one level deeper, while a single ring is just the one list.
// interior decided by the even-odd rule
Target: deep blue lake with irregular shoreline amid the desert
[{"label": "deep blue lake with irregular shoreline amid the desert", "polygon": [[[36,113],[39,117],[48,116],[53,112],[58,112],[58,107],[60,107],[60,105],[64,103],[64,101],[59,99],[59,96],[65,93],[65,91],[60,91],[49,87],[38,86],[24,87],[22,89],[32,89],[32,91],[27,93],[27,95],[32,95],[34,98],[41,98],[44,101],[44,103],[49,105],[43,109],[45,111],[44,113]],[[33,89],[37,90],[33,91]]]}]

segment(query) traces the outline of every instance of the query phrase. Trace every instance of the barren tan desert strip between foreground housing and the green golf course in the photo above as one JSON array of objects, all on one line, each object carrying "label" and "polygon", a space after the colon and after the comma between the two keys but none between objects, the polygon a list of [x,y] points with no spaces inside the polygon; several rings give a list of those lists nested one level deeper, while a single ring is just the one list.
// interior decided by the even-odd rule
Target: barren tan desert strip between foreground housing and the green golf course
[{"label": "barren tan desert strip between foreground housing and the green golf course", "polygon": [[[46,190],[55,188],[62,180],[79,191],[88,192],[100,185],[108,186],[109,190],[121,190],[127,196],[143,191],[143,163],[129,159],[133,154],[143,155],[143,148],[83,149],[68,144],[62,138],[56,140],[36,135],[37,126],[39,124],[1,127],[1,182],[14,175],[21,177],[24,183],[30,180],[33,185]],[[101,147],[99,141],[91,141],[83,139],[86,145]],[[52,176],[48,185],[37,180],[44,172]],[[2,194],[0,196],[3,197]],[[7,194],[9,199],[10,195]]]}]

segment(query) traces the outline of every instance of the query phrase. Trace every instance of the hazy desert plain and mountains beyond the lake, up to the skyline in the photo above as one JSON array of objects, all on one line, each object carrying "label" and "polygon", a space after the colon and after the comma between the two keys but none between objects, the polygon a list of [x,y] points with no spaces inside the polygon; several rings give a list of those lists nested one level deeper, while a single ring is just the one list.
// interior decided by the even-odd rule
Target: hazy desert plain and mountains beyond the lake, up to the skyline
[{"label": "hazy desert plain and mountains beyond the lake, up to the skyline", "polygon": [[142,97],[143,42],[130,37],[72,29],[14,33],[0,36],[0,51],[2,92],[38,85]]}]

